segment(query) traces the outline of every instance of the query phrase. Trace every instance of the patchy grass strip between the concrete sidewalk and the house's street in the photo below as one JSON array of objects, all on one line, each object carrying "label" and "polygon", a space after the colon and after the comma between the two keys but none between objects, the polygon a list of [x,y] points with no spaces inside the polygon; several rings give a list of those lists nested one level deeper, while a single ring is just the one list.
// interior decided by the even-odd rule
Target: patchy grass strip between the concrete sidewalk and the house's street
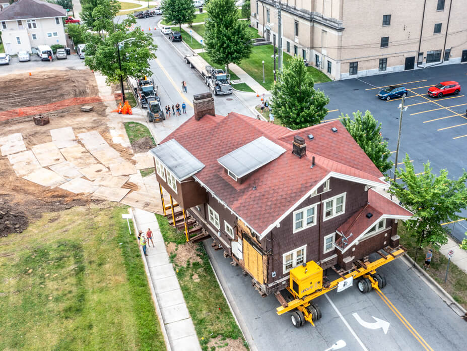
[{"label": "patchy grass strip between the concrete sidewalk and the house's street", "polygon": [[183,232],[169,225],[164,216],[156,217],[203,350],[225,344],[236,351],[247,350],[203,244],[186,243]]}]

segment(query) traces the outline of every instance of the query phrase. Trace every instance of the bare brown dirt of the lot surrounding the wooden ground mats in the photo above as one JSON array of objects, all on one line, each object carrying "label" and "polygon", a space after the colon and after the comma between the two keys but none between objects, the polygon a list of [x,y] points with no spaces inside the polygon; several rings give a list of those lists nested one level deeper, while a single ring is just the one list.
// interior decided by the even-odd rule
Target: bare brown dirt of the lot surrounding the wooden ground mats
[{"label": "bare brown dirt of the lot surrounding the wooden ground mats", "polygon": [[[131,158],[130,150],[112,143],[106,123],[106,106],[99,102],[101,99],[98,97],[96,80],[89,70],[44,71],[31,77],[10,75],[2,77],[2,81],[0,137],[21,133],[29,150],[34,145],[51,142],[52,129],[72,127],[76,135],[97,131],[124,159]],[[21,86],[24,89],[18,91],[18,87]],[[70,99],[71,97],[75,100]],[[81,101],[89,98],[94,98],[97,102]],[[82,112],[80,107],[83,103],[94,106],[93,111]],[[42,106],[42,115],[49,117],[48,125],[36,126],[32,115],[28,116],[29,112],[23,113],[22,116],[15,116],[9,112],[12,109],[24,110],[25,107],[38,105]],[[32,108],[32,111],[34,110],[35,108]],[[1,113],[4,113],[4,116],[8,115],[8,119],[2,120]],[[60,188],[43,187],[18,177],[8,158],[0,157],[0,217],[14,214],[13,217],[9,217],[10,223],[7,223],[10,224],[10,228],[5,227],[4,221],[0,220],[0,236],[8,234],[8,231],[21,231],[28,219],[35,219],[42,212],[60,211],[90,201],[95,200]]]}]

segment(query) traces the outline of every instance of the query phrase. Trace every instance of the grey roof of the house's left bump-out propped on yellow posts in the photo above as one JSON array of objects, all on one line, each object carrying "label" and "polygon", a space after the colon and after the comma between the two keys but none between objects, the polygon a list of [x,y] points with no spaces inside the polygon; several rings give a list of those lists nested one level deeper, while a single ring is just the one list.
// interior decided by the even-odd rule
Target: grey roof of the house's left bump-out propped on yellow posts
[{"label": "grey roof of the house's left bump-out propped on yellow posts", "polygon": [[161,161],[181,182],[202,170],[205,165],[181,146],[175,139],[156,146],[149,152]]}]

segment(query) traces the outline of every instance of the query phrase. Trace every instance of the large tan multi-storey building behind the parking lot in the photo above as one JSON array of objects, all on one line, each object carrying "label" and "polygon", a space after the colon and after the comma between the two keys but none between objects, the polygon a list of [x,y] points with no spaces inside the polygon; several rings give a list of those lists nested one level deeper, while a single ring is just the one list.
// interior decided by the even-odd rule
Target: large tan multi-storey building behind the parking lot
[{"label": "large tan multi-storey building behind the parking lot", "polygon": [[[284,0],[282,47],[330,78],[467,62],[465,0]],[[278,45],[278,1],[251,0],[251,25]]]}]

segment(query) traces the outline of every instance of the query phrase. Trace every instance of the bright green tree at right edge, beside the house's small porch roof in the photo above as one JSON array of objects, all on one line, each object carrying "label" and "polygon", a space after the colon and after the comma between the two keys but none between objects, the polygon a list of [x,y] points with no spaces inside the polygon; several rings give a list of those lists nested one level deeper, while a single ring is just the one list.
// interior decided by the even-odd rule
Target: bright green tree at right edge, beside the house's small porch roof
[{"label": "bright green tree at right edge, beside the house's small porch roof", "polygon": [[438,250],[447,243],[446,229],[441,223],[461,218],[457,213],[467,207],[467,172],[463,171],[457,180],[450,180],[448,171],[441,169],[436,177],[428,161],[424,172],[417,176],[407,154],[404,164],[405,169],[395,170],[401,183],[392,183],[389,191],[414,213],[406,226],[417,238],[417,248],[432,245]]}]

